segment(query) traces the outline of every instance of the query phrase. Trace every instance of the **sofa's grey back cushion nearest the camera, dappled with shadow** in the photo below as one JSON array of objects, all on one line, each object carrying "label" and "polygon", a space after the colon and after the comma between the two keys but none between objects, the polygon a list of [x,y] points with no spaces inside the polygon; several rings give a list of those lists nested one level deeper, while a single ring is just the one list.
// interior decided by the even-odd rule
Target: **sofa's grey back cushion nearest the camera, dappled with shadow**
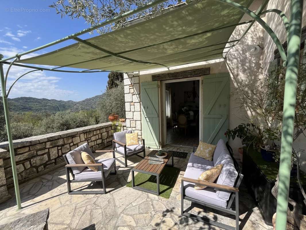
[{"label": "sofa's grey back cushion nearest the camera, dappled with shadow", "polygon": [[[233,187],[237,179],[238,173],[235,169],[233,159],[227,149],[224,149],[215,165],[223,164],[222,171],[218,177],[217,184]],[[216,189],[217,196],[226,201],[229,200],[231,192]]]}]

